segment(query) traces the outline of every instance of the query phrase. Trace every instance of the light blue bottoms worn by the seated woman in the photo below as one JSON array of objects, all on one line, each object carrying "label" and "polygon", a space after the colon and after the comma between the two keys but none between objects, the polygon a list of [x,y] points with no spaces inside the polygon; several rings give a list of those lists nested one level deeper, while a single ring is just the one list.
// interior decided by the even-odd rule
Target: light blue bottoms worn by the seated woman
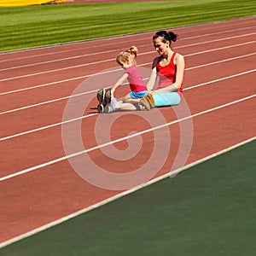
[{"label": "light blue bottoms worn by the seated woman", "polygon": [[168,107],[177,105],[180,102],[180,95],[177,92],[160,92],[153,95],[155,107]]}]

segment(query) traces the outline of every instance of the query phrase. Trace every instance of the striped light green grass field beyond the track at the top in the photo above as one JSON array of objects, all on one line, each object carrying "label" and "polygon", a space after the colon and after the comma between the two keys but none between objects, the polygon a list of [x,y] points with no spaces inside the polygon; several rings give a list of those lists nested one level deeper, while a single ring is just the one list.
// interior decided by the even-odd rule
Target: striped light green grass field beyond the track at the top
[{"label": "striped light green grass field beyond the track at the top", "polygon": [[84,3],[0,8],[0,51],[255,14],[254,0]]}]

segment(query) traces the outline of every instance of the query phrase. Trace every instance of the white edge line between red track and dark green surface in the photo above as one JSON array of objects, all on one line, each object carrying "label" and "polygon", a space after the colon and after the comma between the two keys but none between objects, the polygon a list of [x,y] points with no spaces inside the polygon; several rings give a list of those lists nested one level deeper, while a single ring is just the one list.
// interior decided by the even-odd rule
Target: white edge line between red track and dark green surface
[{"label": "white edge line between red track and dark green surface", "polygon": [[54,227],[58,224],[64,223],[69,219],[78,217],[79,215],[82,215],[85,212],[90,212],[91,210],[94,210],[98,207],[102,207],[103,205],[106,205],[109,202],[116,201],[116,200],[118,200],[119,198],[121,198],[125,195],[129,195],[133,192],[136,192],[139,189],[143,189],[143,188],[148,187],[151,184],[160,182],[161,180],[163,180],[167,177],[174,177],[179,172],[183,172],[183,171],[188,170],[189,168],[191,168],[193,166],[197,166],[197,165],[199,165],[199,164],[201,164],[201,163],[203,163],[207,160],[211,160],[212,158],[214,158],[218,155],[225,154],[225,153],[229,152],[230,150],[241,147],[242,145],[244,145],[246,143],[253,142],[255,139],[256,139],[256,137],[251,137],[251,138],[247,139],[246,141],[243,141],[241,143],[236,143],[235,145],[232,145],[228,148],[224,148],[224,149],[222,149],[222,150],[220,150],[220,151],[218,151],[214,154],[209,154],[206,157],[202,158],[201,160],[196,160],[195,162],[192,162],[189,165],[183,166],[182,168],[178,168],[177,170],[173,170],[172,172],[168,172],[164,175],[161,175],[160,177],[155,177],[154,179],[149,180],[147,183],[143,183],[141,185],[138,185],[135,188],[125,190],[125,192],[121,192],[117,195],[113,195],[112,197],[109,197],[106,200],[103,200],[103,201],[100,201],[96,204],[93,204],[90,207],[84,207],[84,209],[79,210],[78,212],[73,212],[71,214],[68,214],[67,216],[64,216],[62,218],[56,219],[55,221],[49,222],[48,224],[44,224],[43,226],[40,226],[37,229],[30,230],[30,231],[28,231],[28,232],[26,232],[26,233],[24,233],[20,236],[15,236],[14,238],[9,239],[8,241],[3,241],[2,243],[0,243],[0,248],[9,246],[10,244],[15,243],[16,241],[20,241],[22,239],[25,239],[26,237],[33,236],[33,235],[38,234],[39,232],[42,232],[44,230],[48,230],[49,228],[52,228],[52,227]]}]

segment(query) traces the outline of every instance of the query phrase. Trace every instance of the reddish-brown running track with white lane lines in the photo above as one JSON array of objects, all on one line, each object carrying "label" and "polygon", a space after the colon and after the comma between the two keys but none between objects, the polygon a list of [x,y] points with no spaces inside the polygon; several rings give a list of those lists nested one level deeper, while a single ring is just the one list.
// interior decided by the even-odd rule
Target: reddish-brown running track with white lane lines
[{"label": "reddish-brown running track with white lane lines", "polygon": [[[186,164],[255,137],[255,24],[256,17],[251,17],[175,29],[180,38],[172,46],[186,59],[183,102],[187,102],[193,120],[193,144]],[[127,135],[141,132],[139,141],[137,137],[130,139],[131,144],[133,140],[143,143],[136,160],[111,159],[96,143],[95,124],[100,118],[95,110],[96,90],[119,77],[122,71],[115,56],[133,44],[139,49],[138,66],[148,71],[156,56],[153,34],[0,54],[0,245],[123,192],[94,186],[74,172],[61,137],[68,100],[83,105],[90,99],[85,102],[84,116],[69,122],[73,125],[70,137],[80,129],[86,154],[99,168],[125,173],[145,165],[154,148],[149,120],[161,113],[172,137],[172,148],[154,177],[175,169],[172,163],[184,137],[179,125],[189,120],[187,113],[181,113],[184,120],[176,121],[177,107],[153,109],[141,116],[131,112],[104,115],[117,118],[109,131],[114,145],[106,141],[104,148],[125,150]],[[147,72],[143,75],[147,79]],[[83,94],[71,97],[77,88]],[[118,96],[127,91],[122,87]],[[102,126],[101,131],[104,129]],[[81,149],[72,143],[69,148],[73,154]],[[83,157],[79,154],[73,158],[79,165]],[[86,166],[80,167],[86,170]]]}]

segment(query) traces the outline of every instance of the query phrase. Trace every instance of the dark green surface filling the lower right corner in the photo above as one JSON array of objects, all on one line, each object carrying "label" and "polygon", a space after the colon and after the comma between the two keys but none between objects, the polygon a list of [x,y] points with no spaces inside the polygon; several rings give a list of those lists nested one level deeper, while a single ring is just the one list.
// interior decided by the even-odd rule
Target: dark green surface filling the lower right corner
[{"label": "dark green surface filling the lower right corner", "polygon": [[3,256],[254,256],[256,141],[0,249]]}]

